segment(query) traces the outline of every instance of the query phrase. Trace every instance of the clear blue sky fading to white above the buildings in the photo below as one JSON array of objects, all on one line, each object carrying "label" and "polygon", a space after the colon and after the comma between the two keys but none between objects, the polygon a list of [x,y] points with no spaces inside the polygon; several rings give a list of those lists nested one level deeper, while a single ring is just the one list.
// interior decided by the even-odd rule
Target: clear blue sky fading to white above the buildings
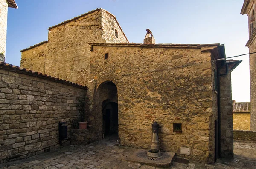
[{"label": "clear blue sky fading to white above the buildings", "polygon": [[[114,14],[128,40],[143,43],[149,28],[156,43],[225,43],[226,56],[248,53],[244,0],[16,0],[9,8],[6,62],[20,66],[21,49],[47,40],[50,26],[103,8]],[[232,95],[250,101],[249,59],[232,72]]]}]

